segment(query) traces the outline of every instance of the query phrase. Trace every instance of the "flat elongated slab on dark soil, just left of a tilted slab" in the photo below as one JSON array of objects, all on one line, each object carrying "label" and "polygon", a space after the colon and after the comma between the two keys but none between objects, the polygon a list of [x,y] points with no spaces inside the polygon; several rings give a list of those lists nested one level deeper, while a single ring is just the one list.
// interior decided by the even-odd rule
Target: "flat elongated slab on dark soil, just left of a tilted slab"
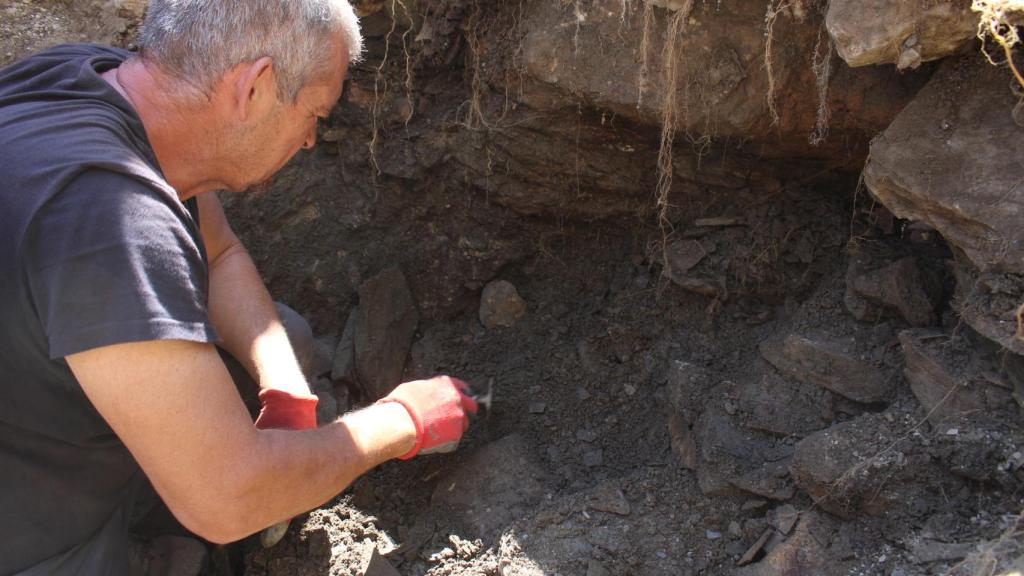
[{"label": "flat elongated slab on dark soil, just left of a tilted slab", "polygon": [[895,388],[895,382],[881,370],[844,352],[856,349],[854,342],[815,341],[791,334],[781,342],[762,342],[760,347],[761,355],[783,374],[856,402],[885,402]]}]

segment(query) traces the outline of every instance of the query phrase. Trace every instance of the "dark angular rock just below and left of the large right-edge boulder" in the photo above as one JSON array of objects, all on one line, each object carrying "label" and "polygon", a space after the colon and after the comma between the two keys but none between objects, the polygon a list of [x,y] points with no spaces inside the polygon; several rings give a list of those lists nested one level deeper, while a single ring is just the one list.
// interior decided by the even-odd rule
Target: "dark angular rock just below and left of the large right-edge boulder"
[{"label": "dark angular rock just below and left of the large right-edge boulder", "polygon": [[942,286],[916,258],[907,256],[870,272],[858,271],[860,263],[851,258],[847,276],[846,306],[854,318],[873,322],[891,311],[913,326],[938,323],[935,310]]}]

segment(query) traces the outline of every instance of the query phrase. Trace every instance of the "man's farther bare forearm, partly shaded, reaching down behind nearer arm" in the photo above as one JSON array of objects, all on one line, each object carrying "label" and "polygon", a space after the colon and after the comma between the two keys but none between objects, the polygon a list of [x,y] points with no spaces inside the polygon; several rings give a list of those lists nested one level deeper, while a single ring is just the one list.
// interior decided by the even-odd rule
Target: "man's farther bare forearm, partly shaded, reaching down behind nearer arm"
[{"label": "man's farther bare forearm, partly shaded, reaching down behind nearer arm", "polygon": [[210,320],[222,346],[242,362],[260,388],[308,395],[309,385],[270,294],[231,231],[220,201],[213,193],[198,200],[210,259]]}]

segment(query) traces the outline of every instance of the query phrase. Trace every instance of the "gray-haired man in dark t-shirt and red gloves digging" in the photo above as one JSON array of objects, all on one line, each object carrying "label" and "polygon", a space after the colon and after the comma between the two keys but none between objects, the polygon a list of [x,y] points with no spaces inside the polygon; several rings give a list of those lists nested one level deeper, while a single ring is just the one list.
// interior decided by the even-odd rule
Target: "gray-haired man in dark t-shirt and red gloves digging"
[{"label": "gray-haired man in dark t-shirt and red gloves digging", "polygon": [[[345,0],[153,0],[139,56],[0,71],[0,574],[126,573],[145,479],[229,542],[458,444],[475,404],[446,377],[315,427],[212,194],[313,146],[360,42]],[[214,342],[260,386],[255,426]]]}]

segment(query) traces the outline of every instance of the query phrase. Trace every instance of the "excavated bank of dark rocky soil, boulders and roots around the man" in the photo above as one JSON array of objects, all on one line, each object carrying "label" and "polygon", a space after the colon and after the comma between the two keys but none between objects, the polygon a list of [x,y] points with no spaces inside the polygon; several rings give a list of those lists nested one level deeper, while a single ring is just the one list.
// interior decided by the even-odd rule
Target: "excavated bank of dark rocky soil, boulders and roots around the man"
[{"label": "excavated bank of dark rocky soil, boulders and roots around the man", "polygon": [[[0,7],[0,56],[128,4]],[[321,146],[225,204],[322,420],[494,405],[207,573],[1024,569],[1024,105],[969,2],[355,4]]]}]

